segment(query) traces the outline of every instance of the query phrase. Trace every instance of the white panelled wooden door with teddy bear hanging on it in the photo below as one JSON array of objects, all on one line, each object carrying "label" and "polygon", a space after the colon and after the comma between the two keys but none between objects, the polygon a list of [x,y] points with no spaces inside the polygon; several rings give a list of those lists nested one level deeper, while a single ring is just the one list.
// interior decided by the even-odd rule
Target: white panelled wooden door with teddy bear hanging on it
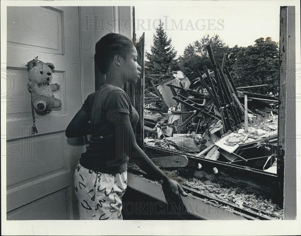
[{"label": "white panelled wooden door with teddy bear hanging on it", "polygon": [[[78,7],[7,8],[7,219],[73,219],[73,173],[84,140],[64,130],[81,107]],[[62,109],[32,112],[26,63],[55,66],[51,83]],[[76,217],[75,217],[76,218]]]}]

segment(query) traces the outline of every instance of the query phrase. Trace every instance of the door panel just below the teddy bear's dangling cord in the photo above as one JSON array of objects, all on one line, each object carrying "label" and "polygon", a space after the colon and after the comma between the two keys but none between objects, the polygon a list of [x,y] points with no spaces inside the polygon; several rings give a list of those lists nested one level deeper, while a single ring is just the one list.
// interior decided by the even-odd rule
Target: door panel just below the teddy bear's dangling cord
[{"label": "door panel just below the teddy bear's dangling cord", "polygon": [[[24,139],[23,142],[19,140],[9,142],[8,151],[11,149],[14,155],[9,155],[11,152],[8,152],[7,155],[7,187],[21,185],[24,184],[24,181],[42,178],[45,175],[53,174],[55,171],[66,170],[67,166],[64,166],[64,162],[67,164],[67,159],[62,152],[66,148],[62,134],[45,135],[39,139],[32,136]],[[45,143],[48,145],[45,146]],[[56,148],[53,149],[52,147]],[[29,150],[33,150],[35,153],[33,154]],[[39,159],[34,159],[32,156],[39,157]]]}]

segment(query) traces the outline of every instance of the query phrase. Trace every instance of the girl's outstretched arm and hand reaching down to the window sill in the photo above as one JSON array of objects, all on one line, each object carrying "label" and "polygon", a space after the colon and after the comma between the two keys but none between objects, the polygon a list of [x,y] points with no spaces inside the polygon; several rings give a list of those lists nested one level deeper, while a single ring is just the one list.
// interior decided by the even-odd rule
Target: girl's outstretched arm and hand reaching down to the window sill
[{"label": "girl's outstretched arm and hand reaching down to the window sill", "polygon": [[183,188],[173,179],[168,178],[143,152],[138,146],[135,139],[135,134],[132,129],[129,115],[125,113],[119,113],[119,120],[116,121],[116,140],[120,140],[123,143],[117,143],[116,145],[124,147],[127,155],[133,161],[137,162],[142,170],[144,170],[153,180],[163,180],[163,192],[166,200],[182,202],[180,194],[187,196]]}]

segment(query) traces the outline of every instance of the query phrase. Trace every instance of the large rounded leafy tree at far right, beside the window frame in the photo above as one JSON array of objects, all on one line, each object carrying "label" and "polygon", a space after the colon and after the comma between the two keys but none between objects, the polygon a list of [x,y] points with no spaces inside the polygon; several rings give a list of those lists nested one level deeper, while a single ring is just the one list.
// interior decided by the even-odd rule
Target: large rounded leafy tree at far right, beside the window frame
[{"label": "large rounded leafy tree at far right, beside the window frame", "polygon": [[252,88],[250,91],[275,94],[278,85],[278,56],[278,43],[270,37],[256,39],[253,46],[237,53],[237,60],[231,72],[235,86],[268,84],[265,87]]}]

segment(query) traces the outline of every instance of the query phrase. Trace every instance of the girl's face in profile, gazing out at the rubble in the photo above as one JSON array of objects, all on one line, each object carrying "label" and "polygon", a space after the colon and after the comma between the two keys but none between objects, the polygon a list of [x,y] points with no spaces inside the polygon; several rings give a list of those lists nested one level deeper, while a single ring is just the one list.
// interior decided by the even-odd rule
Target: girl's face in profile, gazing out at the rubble
[{"label": "girl's face in profile, gazing out at the rubble", "polygon": [[139,66],[137,62],[137,50],[133,46],[132,50],[126,55],[126,59],[123,60],[122,69],[124,71],[124,76],[126,78],[126,82],[131,84],[137,83],[138,79],[140,78],[140,70],[141,66]]}]

